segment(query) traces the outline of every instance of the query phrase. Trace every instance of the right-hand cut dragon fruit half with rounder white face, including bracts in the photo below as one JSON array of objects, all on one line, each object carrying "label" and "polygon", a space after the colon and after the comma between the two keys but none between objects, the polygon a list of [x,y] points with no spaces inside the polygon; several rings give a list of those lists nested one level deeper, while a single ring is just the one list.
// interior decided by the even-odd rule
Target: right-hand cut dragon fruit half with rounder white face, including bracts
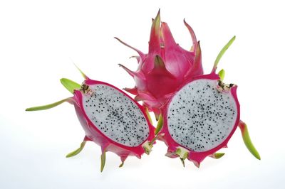
[{"label": "right-hand cut dragon fruit half with rounder white face, including bracts", "polygon": [[207,156],[223,156],[216,152],[227,147],[237,126],[249,151],[260,159],[247,125],[239,118],[237,85],[222,82],[224,70],[216,74],[219,59],[234,39],[222,48],[210,74],[186,80],[162,108],[156,133],[168,146],[166,156],[179,157],[183,165],[186,158],[199,167]]}]

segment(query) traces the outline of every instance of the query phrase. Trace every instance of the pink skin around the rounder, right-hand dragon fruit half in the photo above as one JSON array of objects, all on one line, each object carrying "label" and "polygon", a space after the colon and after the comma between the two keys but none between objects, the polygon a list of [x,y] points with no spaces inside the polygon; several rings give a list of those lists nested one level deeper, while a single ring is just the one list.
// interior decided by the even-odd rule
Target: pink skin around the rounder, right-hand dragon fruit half
[{"label": "pink skin around the rounder, right-hand dragon fruit half", "polygon": [[[199,75],[195,78],[192,78],[191,80],[188,80],[187,82],[184,83],[184,85],[186,85],[189,82],[192,82],[194,80],[199,80],[199,79],[209,79],[209,80],[219,80],[219,75],[217,75],[216,73],[214,73],[214,71],[209,74],[209,75]],[[184,86],[182,85],[180,87],[180,89]],[[177,90],[178,91],[178,90]],[[227,139],[225,139],[222,144],[219,144],[219,146],[212,148],[209,151],[204,151],[204,152],[195,152],[195,151],[191,151],[190,149],[188,149],[189,155],[188,155],[188,160],[192,161],[193,163],[195,163],[195,165],[197,167],[199,167],[199,164],[204,160],[204,158],[206,158],[207,156],[211,156],[213,153],[216,153],[217,151],[219,151],[220,148],[225,148],[227,147],[227,143],[229,141],[229,139],[231,139],[232,134],[234,134],[234,131],[237,129],[237,126],[239,125],[239,101],[237,99],[237,86],[233,86],[230,88],[229,92],[231,93],[231,95],[234,97],[234,100],[237,104],[237,120],[235,121],[234,124],[234,128],[232,129],[231,133],[229,134],[229,136],[227,137]],[[170,99],[171,101],[171,99]],[[168,103],[167,105],[165,105],[165,108],[162,109],[162,117],[163,117],[163,126],[162,129],[159,133],[160,135],[160,140],[164,141],[165,144],[168,146],[167,149],[167,156],[169,156],[170,158],[177,158],[178,156],[175,154],[175,151],[177,150],[177,147],[180,147],[180,144],[177,144],[177,142],[175,142],[172,137],[170,136],[170,133],[167,129],[167,109],[169,107]],[[186,148],[185,146],[181,146],[183,148]]]}]

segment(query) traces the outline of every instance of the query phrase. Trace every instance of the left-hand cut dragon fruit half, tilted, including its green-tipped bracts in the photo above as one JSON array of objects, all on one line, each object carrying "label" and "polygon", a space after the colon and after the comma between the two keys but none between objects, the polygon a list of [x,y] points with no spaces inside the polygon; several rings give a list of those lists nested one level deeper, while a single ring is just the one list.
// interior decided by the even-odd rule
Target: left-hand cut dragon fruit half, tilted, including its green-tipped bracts
[{"label": "left-hand cut dragon fruit half, tilted, including its green-tipped bracts", "polygon": [[102,149],[101,172],[105,166],[106,151],[120,156],[120,167],[128,156],[141,158],[143,153],[149,154],[154,143],[155,128],[147,109],[117,87],[83,76],[86,80],[82,85],[66,78],[61,79],[73,97],[41,107],[31,107],[26,111],[50,109],[63,102],[73,104],[86,136],[80,148],[66,157],[80,153],[86,141],[94,141]]}]

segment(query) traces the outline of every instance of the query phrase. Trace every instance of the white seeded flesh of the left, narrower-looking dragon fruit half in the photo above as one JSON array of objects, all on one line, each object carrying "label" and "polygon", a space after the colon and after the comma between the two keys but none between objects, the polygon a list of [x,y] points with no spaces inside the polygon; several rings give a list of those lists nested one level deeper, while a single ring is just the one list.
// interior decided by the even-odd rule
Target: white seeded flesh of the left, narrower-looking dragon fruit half
[{"label": "white seeded flesh of the left, narrower-looking dragon fruit half", "polygon": [[83,108],[94,126],[119,144],[135,147],[150,134],[137,104],[108,85],[90,85],[83,94]]}]

